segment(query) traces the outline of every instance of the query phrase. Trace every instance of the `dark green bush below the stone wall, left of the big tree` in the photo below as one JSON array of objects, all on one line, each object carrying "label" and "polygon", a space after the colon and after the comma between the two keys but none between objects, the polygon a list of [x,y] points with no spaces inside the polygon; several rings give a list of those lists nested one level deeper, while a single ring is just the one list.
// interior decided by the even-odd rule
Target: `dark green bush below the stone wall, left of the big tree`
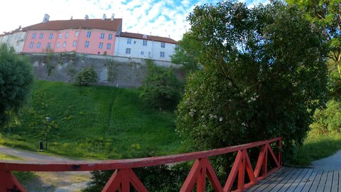
[{"label": "dark green bush below the stone wall, left of the big tree", "polygon": [[146,62],[148,71],[140,97],[146,105],[155,109],[172,109],[178,104],[180,82],[170,69]]}]

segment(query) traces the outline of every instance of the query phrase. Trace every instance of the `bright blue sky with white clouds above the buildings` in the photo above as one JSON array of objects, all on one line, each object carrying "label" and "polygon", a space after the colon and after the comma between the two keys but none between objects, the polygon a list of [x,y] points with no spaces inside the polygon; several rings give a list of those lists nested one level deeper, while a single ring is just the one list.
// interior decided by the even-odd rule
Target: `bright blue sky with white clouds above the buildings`
[{"label": "bright blue sky with white clouds above the buildings", "polygon": [[[0,7],[0,34],[43,21],[123,18],[122,31],[171,37],[178,41],[190,28],[186,17],[195,5],[216,4],[219,0],[4,0]],[[248,6],[269,0],[242,0]]]}]

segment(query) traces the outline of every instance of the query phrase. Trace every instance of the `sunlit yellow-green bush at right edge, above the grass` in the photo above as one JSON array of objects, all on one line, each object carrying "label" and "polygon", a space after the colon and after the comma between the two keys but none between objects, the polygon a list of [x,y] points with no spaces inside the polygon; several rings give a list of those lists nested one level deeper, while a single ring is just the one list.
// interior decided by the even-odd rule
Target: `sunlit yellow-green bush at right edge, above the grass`
[{"label": "sunlit yellow-green bush at right edge, above the grass", "polygon": [[341,132],[341,102],[330,100],[323,110],[316,110],[314,122],[310,124],[315,134],[331,134]]}]

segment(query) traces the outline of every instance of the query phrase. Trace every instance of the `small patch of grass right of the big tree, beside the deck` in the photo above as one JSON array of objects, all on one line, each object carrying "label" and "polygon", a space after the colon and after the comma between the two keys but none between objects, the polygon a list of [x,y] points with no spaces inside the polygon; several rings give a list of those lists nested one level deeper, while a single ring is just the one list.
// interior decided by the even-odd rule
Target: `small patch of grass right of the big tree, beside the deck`
[{"label": "small patch of grass right of the big tree, beside the deck", "polygon": [[308,134],[303,146],[297,150],[295,166],[309,166],[312,161],[323,159],[341,150],[341,134]]}]

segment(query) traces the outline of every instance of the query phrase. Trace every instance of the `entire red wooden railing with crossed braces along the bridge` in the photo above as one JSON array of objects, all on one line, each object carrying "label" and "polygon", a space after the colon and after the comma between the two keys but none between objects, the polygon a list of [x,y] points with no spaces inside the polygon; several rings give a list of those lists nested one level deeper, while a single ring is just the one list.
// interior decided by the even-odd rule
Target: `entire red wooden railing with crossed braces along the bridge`
[{"label": "entire red wooden railing with crossed braces along the bridge", "polygon": [[[253,168],[247,149],[261,147],[258,160]],[[275,154],[274,147],[278,147]],[[229,173],[224,187],[212,169],[208,157],[237,152],[236,159]],[[268,169],[268,158],[273,159],[274,168]],[[190,173],[183,183],[180,191],[192,191],[195,183],[197,191],[205,191],[206,178],[209,179],[215,191],[232,191],[234,181],[237,179],[237,190],[254,186],[261,179],[281,167],[281,137],[269,139],[261,142],[253,142],[238,146],[229,146],[221,149],[209,151],[198,151],[188,154],[176,154],[171,156],[156,156],[141,159],[121,159],[108,161],[58,161],[58,162],[23,162],[23,161],[0,161],[0,192],[26,191],[11,171],[96,171],[96,170],[116,170],[107,182],[102,191],[130,191],[133,186],[136,191],[147,191],[144,184],[136,176],[133,168],[144,166],[156,166],[162,164],[174,164],[181,161],[195,160]],[[245,174],[247,173],[247,175]],[[238,174],[238,177],[237,177]],[[249,177],[249,180],[246,179]],[[249,183],[245,183],[249,181]]]}]

